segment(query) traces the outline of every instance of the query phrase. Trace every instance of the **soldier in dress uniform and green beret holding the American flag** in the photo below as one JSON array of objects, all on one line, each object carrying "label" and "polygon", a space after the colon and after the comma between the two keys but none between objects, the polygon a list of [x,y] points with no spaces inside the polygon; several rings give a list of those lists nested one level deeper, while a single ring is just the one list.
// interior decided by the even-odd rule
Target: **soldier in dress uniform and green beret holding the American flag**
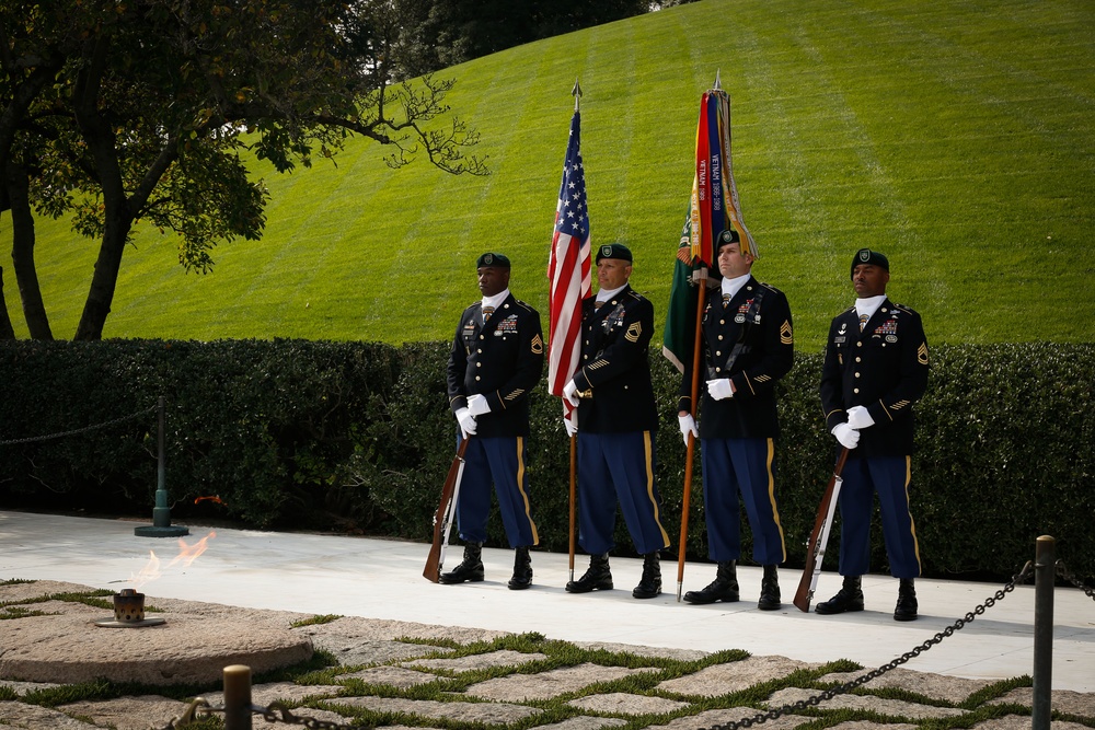
[{"label": "soldier in dress uniform and green beret holding the American flag", "polygon": [[648,351],[654,305],[627,283],[632,263],[622,244],[597,250],[597,297],[581,305],[581,368],[563,389],[578,408],[578,542],[590,556],[589,569],[566,590],[612,589],[609,551],[619,500],[644,558],[632,595],[653,599],[661,592],[659,551],[669,546],[669,534],[661,526],[654,478],[658,413]]}]

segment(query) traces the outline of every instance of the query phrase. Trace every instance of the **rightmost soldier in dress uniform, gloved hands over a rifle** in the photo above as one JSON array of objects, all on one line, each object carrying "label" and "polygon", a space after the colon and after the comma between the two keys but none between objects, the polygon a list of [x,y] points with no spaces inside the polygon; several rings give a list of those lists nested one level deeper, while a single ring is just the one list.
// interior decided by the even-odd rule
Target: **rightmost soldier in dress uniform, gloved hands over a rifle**
[{"label": "rightmost soldier in dress uniform, gloved hands over a rifle", "polygon": [[899,579],[894,618],[917,618],[920,547],[909,510],[912,404],[927,389],[927,339],[920,315],[886,297],[889,260],[861,248],[852,259],[855,305],[829,327],[821,368],[826,428],[848,448],[840,490],[840,591],[815,611],[863,611],[860,577],[871,563],[874,495],[881,507],[890,573]]}]

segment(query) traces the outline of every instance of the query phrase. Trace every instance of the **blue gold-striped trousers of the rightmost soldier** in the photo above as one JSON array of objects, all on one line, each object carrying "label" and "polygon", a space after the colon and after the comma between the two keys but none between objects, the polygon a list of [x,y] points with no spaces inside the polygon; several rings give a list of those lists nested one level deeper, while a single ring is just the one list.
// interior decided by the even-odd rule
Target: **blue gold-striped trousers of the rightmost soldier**
[{"label": "blue gold-striped trousers of the rightmost soldier", "polygon": [[871,569],[871,514],[878,495],[883,537],[895,578],[920,576],[917,525],[909,510],[909,456],[849,459],[840,487],[840,575],[862,576]]}]

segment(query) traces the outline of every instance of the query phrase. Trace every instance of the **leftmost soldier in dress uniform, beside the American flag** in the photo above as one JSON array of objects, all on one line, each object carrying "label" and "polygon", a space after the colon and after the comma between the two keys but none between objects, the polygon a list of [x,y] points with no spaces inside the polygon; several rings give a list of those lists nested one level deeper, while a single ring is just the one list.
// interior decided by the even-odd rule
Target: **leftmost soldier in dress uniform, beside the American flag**
[{"label": "leftmost soldier in dress uniform, beside the American flag", "polygon": [[449,354],[449,406],[469,439],[457,499],[463,561],[442,583],[483,580],[481,548],[491,513],[491,485],[502,522],[517,549],[509,588],[532,584],[529,547],[540,542],[529,508],[526,440],[529,393],[543,372],[540,313],[509,292],[509,259],[486,253],[475,262],[483,299],[464,310]]}]

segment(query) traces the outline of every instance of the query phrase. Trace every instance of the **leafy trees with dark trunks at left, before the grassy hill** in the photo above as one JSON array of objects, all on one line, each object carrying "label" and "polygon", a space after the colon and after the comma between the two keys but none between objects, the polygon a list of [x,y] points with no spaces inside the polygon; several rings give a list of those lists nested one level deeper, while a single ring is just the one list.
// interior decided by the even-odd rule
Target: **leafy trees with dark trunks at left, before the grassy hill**
[{"label": "leafy trees with dark trunks at left, before the grassy hill", "polygon": [[[453,81],[393,82],[384,0],[54,0],[0,7],[0,210],[32,337],[51,334],[31,209],[71,215],[100,241],[77,339],[99,339],[125,245],[147,220],[208,271],[219,241],[257,239],[268,194],[245,148],[279,172],[333,158],[348,137],[485,174],[477,135],[449,115]],[[0,334],[4,332],[0,322]]]}]

